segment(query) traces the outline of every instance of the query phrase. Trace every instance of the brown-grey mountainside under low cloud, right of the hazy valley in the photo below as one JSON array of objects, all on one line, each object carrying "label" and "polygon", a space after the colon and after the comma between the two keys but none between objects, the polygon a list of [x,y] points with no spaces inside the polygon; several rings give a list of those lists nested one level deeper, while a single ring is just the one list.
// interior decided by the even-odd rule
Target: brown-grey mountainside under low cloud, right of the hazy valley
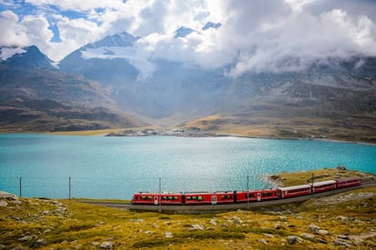
[{"label": "brown-grey mountainside under low cloud, right of the hazy valley", "polygon": [[180,126],[211,134],[375,143],[375,69],[375,57],[354,57],[302,72],[247,73],[225,89],[217,112]]}]

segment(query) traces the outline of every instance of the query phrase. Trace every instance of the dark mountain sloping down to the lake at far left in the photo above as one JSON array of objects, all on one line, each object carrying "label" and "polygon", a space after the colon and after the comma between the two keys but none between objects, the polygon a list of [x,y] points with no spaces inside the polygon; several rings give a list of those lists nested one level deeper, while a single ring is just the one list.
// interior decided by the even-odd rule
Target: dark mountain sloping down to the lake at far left
[{"label": "dark mountain sloping down to the lake at far left", "polygon": [[[2,48],[8,51],[8,48]],[[124,114],[105,89],[58,71],[36,46],[12,49],[0,62],[3,130],[88,130],[144,125]],[[9,53],[8,53],[9,54]]]}]

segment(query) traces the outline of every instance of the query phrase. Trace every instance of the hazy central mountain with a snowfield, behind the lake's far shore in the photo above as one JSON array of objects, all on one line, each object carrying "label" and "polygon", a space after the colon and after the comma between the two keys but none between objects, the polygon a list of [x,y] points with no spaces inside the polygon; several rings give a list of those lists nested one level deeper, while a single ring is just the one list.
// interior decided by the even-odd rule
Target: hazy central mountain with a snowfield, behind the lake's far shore
[{"label": "hazy central mountain with a snowfield, behind the lake's far shore", "polygon": [[[177,32],[183,36],[190,29],[182,27]],[[206,70],[147,58],[136,45],[138,38],[122,34],[131,43],[114,44],[117,35],[106,36],[67,55],[59,68],[111,88],[114,101],[131,114],[160,119],[195,117],[213,111],[218,92],[228,82],[223,68]]]}]

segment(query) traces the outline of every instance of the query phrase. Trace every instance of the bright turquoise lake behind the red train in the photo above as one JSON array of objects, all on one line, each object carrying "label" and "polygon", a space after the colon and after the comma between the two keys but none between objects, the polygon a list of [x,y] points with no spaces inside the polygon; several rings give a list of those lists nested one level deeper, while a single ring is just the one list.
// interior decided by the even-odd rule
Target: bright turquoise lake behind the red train
[{"label": "bright turquoise lake behind the red train", "polygon": [[137,191],[269,188],[266,175],[345,165],[376,174],[376,146],[314,140],[0,135],[0,190],[130,199]]}]

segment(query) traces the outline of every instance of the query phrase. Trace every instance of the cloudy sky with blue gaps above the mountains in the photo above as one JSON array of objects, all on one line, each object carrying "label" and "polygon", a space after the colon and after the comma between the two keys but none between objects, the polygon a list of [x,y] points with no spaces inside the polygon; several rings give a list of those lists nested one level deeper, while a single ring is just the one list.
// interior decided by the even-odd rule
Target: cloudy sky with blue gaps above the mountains
[{"label": "cloudy sky with blue gaps above the mountains", "polygon": [[[221,26],[203,30],[209,21]],[[175,37],[181,26],[196,32]],[[124,31],[143,58],[294,71],[375,56],[376,0],[0,0],[0,45],[37,45],[54,61]]]}]

